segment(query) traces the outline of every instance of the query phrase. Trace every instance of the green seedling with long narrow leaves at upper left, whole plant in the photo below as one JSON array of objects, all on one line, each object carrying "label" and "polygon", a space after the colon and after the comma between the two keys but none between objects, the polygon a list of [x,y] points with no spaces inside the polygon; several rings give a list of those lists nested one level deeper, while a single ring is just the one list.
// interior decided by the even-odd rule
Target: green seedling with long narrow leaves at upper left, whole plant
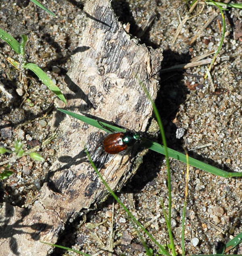
[{"label": "green seedling with long narrow leaves at upper left, whole plant", "polygon": [[19,62],[7,57],[7,61],[10,62],[17,70],[19,70],[21,76],[23,76],[23,71],[25,69],[31,70],[36,76],[44,83],[53,93],[59,97],[65,104],[67,103],[63,93],[60,91],[58,86],[49,78],[49,76],[36,64],[27,63],[25,60],[25,45],[27,43],[28,37],[26,35],[21,35],[21,42],[19,43],[13,36],[5,32],[0,28],[0,38],[4,40],[10,47],[19,54]]}]

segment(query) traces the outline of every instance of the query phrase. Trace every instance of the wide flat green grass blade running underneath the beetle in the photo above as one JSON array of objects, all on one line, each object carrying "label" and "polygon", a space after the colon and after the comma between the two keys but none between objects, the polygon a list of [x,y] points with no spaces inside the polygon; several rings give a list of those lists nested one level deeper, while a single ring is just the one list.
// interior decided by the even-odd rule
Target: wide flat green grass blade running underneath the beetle
[{"label": "wide flat green grass blade running underneath the beetle", "polygon": [[[87,117],[87,116],[83,116],[83,115],[80,115],[80,114],[76,114],[76,113],[73,113],[73,112],[70,112],[68,110],[64,110],[64,109],[60,109],[60,108],[57,108],[57,110],[65,113],[65,114],[68,114],[70,116],[73,116],[85,123],[88,123],[98,129],[102,129],[104,131],[107,131],[107,132],[111,132],[111,131],[108,131],[107,129],[105,129],[104,127],[108,127],[108,128],[111,128],[113,129],[114,131],[123,131],[125,132],[126,130],[125,129],[122,129],[122,128],[119,128],[119,127],[116,127],[114,125],[110,125],[108,123],[104,123],[104,122],[98,122],[96,119],[94,118],[90,118],[90,117]],[[102,127],[100,125],[100,123],[102,125],[104,125],[104,127]],[[147,144],[149,144],[150,146],[148,147],[149,149],[151,150],[154,150],[155,152],[158,152],[160,154],[165,154],[165,149],[164,149],[164,146],[157,143],[157,142],[153,142],[151,140],[148,140],[148,139],[143,139],[144,142],[146,142]],[[183,153],[180,153],[176,150],[173,150],[171,148],[167,148],[168,149],[168,155],[169,157],[172,157],[176,160],[179,160],[181,162],[184,162],[186,163],[186,154],[183,154]],[[204,171],[207,171],[209,173],[212,173],[212,174],[215,174],[217,176],[221,176],[221,177],[224,177],[224,178],[229,178],[229,177],[242,177],[242,173],[239,173],[239,172],[228,172],[228,171],[223,171],[222,169],[219,169],[217,167],[214,167],[212,165],[209,165],[207,163],[203,163],[202,161],[199,161],[199,160],[196,160],[192,157],[189,157],[189,164],[193,167],[196,167],[198,169],[201,169],[201,170],[204,170]]]}]

